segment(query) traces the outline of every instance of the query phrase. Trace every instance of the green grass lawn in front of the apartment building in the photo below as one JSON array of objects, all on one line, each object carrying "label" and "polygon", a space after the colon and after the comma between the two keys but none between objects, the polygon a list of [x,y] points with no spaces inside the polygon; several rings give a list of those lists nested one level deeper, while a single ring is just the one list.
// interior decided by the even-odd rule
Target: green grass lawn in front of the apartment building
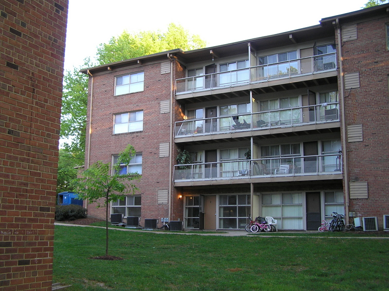
[{"label": "green grass lawn in front of the apartment building", "polygon": [[91,259],[105,254],[105,229],[57,225],[53,282],[72,284],[67,291],[389,290],[388,239],[326,235],[264,238],[109,230],[109,255],[124,260],[106,261]]}]

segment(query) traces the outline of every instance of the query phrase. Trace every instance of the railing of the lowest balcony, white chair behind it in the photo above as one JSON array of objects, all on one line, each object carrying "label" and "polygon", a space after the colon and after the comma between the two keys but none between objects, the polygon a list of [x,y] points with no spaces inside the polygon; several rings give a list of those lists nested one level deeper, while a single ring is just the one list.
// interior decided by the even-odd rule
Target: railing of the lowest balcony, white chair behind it
[{"label": "railing of the lowest balcony, white chair behind it", "polygon": [[[267,182],[269,178],[302,177],[299,180],[328,179],[341,174],[341,154],[322,154],[198,163],[174,166],[174,182],[219,181],[220,184]],[[328,175],[329,177],[325,177]],[[338,176],[341,178],[341,176]],[[240,180],[240,181],[239,181]],[[273,181],[276,181],[273,179]],[[183,183],[193,185],[192,183]],[[178,184],[176,184],[177,186]]]}]

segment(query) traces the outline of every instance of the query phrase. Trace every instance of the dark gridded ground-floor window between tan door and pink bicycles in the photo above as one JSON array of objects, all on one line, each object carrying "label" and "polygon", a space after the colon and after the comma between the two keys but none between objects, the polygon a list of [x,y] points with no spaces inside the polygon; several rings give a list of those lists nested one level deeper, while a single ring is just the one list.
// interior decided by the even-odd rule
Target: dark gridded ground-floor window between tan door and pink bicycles
[{"label": "dark gridded ground-floor window between tan door and pink bicycles", "polygon": [[220,195],[219,196],[219,228],[244,229],[248,215],[251,213],[251,196]]}]

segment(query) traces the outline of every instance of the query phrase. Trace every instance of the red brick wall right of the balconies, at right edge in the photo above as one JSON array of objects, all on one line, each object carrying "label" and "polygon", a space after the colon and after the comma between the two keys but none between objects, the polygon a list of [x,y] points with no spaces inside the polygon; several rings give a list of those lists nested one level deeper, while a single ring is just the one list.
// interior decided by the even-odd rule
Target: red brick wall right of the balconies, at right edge
[{"label": "red brick wall right of the balconies, at right edge", "polygon": [[342,44],[345,73],[359,72],[360,87],[346,90],[346,125],[362,124],[363,141],[347,144],[350,181],[368,182],[368,199],[351,199],[357,216],[389,214],[389,17],[357,23],[357,39]]}]

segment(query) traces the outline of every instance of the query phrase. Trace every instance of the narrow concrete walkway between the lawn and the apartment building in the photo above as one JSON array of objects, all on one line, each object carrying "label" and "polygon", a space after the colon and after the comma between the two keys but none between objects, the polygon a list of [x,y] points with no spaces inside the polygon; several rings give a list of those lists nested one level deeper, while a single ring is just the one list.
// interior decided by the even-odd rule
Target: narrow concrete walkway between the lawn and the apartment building
[{"label": "narrow concrete walkway between the lawn and the apartment building", "polygon": [[[102,226],[93,226],[93,225],[78,225],[71,223],[54,223],[54,225],[64,225],[64,226],[80,226],[80,227],[96,227],[103,228]],[[144,230],[144,229],[134,229],[134,228],[116,228],[116,227],[108,227],[108,229],[119,230],[119,231],[133,231],[133,232],[142,232],[142,233],[152,233],[152,234],[175,234],[175,235],[197,235],[197,236],[224,236],[224,237],[242,237],[242,236],[250,236],[256,238],[321,238],[321,239],[371,239],[371,240],[389,240],[389,237],[328,237],[328,236],[296,236],[297,232],[286,232],[282,231],[283,235],[265,235],[258,234],[255,235],[251,232],[247,232],[246,230],[221,230],[219,233],[217,231],[212,233],[202,233],[199,232],[176,232],[176,231],[155,231],[155,230]],[[307,234],[315,234],[317,231],[302,231],[299,233],[307,233]],[[286,235],[287,234],[287,235]]]}]

